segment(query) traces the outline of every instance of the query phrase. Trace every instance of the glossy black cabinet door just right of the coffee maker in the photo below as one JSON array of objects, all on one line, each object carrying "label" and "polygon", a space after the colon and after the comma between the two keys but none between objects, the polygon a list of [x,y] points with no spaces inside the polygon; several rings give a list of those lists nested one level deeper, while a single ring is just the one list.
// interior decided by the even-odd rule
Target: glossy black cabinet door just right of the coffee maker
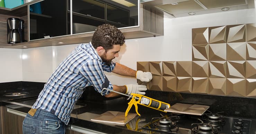
[{"label": "glossy black cabinet door just right of the coffee maker", "polygon": [[29,6],[30,40],[70,34],[67,0],[44,0]]}]

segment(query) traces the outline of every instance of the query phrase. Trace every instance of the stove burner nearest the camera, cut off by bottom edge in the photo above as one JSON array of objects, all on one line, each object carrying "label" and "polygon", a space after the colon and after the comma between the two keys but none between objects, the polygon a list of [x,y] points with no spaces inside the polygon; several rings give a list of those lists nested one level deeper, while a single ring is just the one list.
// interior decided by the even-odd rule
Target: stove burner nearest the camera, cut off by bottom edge
[{"label": "stove burner nearest the camera, cut off by bottom edge", "polygon": [[211,125],[212,123],[204,123],[201,119],[198,119],[198,120],[200,120],[201,123],[191,124],[191,127],[193,125],[197,125],[191,128],[191,131],[193,134],[218,134],[219,133],[218,129]]}]

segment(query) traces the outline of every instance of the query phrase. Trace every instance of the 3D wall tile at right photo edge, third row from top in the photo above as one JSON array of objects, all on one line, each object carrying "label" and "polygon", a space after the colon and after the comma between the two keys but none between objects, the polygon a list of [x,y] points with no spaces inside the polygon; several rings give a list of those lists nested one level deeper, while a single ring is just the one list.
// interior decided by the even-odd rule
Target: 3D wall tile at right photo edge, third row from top
[{"label": "3D wall tile at right photo edge, third row from top", "polygon": [[256,79],[256,61],[246,61],[246,78]]}]

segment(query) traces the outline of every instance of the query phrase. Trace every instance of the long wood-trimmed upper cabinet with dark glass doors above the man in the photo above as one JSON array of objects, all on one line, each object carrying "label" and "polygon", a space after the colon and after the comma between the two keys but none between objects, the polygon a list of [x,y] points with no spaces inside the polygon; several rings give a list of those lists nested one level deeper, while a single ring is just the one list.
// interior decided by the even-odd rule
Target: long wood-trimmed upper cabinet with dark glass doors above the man
[{"label": "long wood-trimmed upper cabinet with dark glass doors above the man", "polygon": [[[15,10],[17,8],[25,11],[25,15],[19,16],[25,20],[28,42],[7,44],[4,30],[0,32],[1,41],[5,40],[0,42],[2,48],[87,43],[102,24],[116,26],[126,39],[164,35],[164,13],[138,0],[34,0]],[[0,11],[5,10],[0,8]],[[5,18],[0,28],[6,29],[5,21],[9,16],[5,12],[1,14]]]}]

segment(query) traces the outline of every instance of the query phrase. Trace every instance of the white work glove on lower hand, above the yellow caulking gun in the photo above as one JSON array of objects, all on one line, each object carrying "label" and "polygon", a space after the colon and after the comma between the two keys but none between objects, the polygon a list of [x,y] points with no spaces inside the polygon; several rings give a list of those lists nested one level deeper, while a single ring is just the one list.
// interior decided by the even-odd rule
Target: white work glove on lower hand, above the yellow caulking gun
[{"label": "white work glove on lower hand, above the yellow caulking gun", "polygon": [[139,85],[138,83],[137,84],[127,84],[125,86],[126,86],[126,94],[128,94],[128,95],[131,95],[131,93],[145,95],[145,92],[143,92],[143,91],[147,90],[145,85]]}]

